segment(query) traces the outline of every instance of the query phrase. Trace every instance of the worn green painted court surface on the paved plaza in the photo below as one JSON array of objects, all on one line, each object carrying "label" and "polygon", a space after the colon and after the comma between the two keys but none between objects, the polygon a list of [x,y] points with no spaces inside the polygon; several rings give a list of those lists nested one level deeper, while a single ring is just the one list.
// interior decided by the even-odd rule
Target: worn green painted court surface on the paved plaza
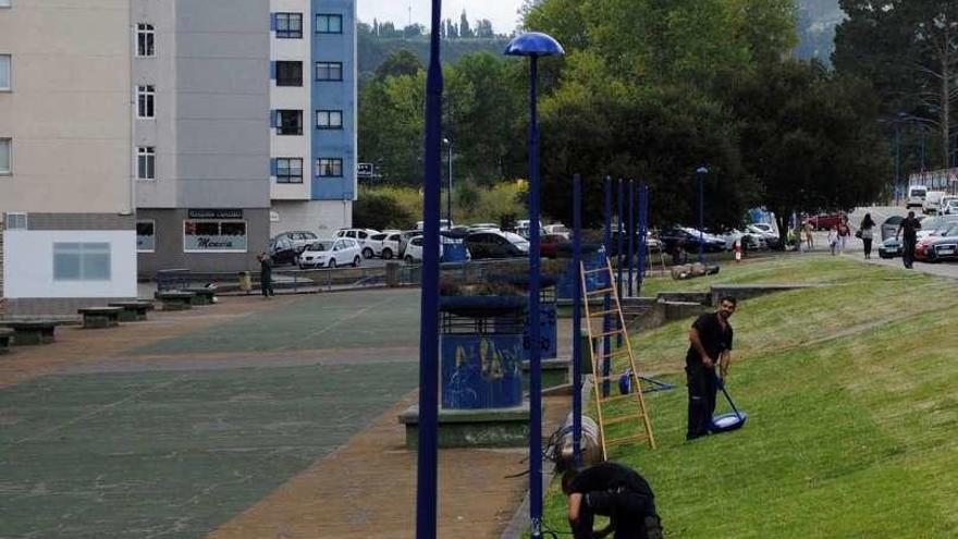
[{"label": "worn green painted court surface on the paved plaza", "polygon": [[[303,296],[128,354],[170,368],[0,390],[0,537],[206,536],[416,388],[418,307],[418,290]],[[209,353],[243,360],[192,366]]]}]

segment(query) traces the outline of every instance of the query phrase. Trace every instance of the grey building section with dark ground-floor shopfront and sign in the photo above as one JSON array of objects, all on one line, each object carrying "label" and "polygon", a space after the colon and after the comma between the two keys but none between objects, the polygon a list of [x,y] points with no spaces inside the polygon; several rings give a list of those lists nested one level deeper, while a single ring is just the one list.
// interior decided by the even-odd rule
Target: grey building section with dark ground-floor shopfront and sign
[{"label": "grey building section with dark ground-floor shopfront and sign", "polygon": [[269,0],[130,0],[139,274],[257,268],[269,242]]}]

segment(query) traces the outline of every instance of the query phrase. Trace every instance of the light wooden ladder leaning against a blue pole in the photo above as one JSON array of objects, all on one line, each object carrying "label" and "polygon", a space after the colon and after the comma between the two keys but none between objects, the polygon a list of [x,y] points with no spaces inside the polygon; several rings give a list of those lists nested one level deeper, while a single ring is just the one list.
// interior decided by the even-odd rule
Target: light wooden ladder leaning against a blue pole
[{"label": "light wooden ladder leaning against a blue pole", "polygon": [[[602,274],[606,275],[604,283],[600,285],[597,290],[589,290],[589,281],[587,275]],[[602,442],[602,458],[609,460],[609,446],[610,445],[618,445],[630,442],[644,441],[649,444],[649,448],[655,449],[655,438],[652,436],[652,421],[649,419],[649,413],[646,409],[646,399],[642,396],[642,388],[639,384],[639,369],[636,368],[636,358],[632,354],[632,346],[629,342],[628,331],[625,329],[625,318],[622,315],[622,304],[618,301],[618,293],[615,289],[615,277],[612,272],[612,265],[609,261],[609,258],[605,258],[605,266],[598,269],[586,269],[585,262],[581,264],[581,286],[582,286],[582,303],[586,306],[586,323],[589,328],[589,344],[592,350],[592,387],[595,390],[595,407],[599,411],[599,438]],[[612,298],[612,308],[599,309],[595,313],[592,313],[591,306],[589,305],[590,299],[594,299],[597,297],[603,297],[605,295],[611,296]],[[601,327],[601,321],[604,319],[606,315],[614,315],[612,320],[612,328],[606,330]],[[599,320],[600,328],[595,328],[595,321]],[[613,350],[610,354],[604,354],[604,350],[601,346],[603,339],[614,339],[616,336],[622,336],[623,346]],[[615,396],[602,396],[602,388],[604,382],[614,382],[618,380],[618,376],[602,375],[602,363],[607,358],[609,360],[614,360],[616,358],[628,357],[629,360],[629,377],[631,391],[625,395],[615,395]],[[607,409],[605,406],[613,402],[626,402],[630,403],[630,405],[626,406],[625,413],[618,409],[616,406],[616,412],[614,416],[607,416]],[[606,440],[606,427],[612,425],[621,425],[621,424],[629,424],[635,421],[635,427],[638,432],[630,433],[627,436],[621,436],[618,438],[612,438]]]}]

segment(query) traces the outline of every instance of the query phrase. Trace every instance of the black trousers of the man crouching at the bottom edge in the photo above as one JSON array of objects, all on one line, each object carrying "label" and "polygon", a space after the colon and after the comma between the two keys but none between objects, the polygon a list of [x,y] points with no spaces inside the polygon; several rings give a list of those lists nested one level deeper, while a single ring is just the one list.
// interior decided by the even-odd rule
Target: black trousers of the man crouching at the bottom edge
[{"label": "black trousers of the man crouching at the bottom edge", "polygon": [[595,491],[582,497],[579,520],[573,528],[575,539],[592,539],[595,515],[604,515],[615,526],[615,539],[659,539],[662,528],[651,493]]}]

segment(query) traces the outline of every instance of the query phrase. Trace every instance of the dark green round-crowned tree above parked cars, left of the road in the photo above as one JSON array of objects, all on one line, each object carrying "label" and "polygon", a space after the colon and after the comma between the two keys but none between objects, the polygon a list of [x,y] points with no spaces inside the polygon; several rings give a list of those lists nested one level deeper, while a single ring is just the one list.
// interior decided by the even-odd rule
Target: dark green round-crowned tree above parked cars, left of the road
[{"label": "dark green round-crowned tree above parked cars, left of the road", "polygon": [[732,86],[727,102],[740,122],[742,161],[779,230],[795,211],[846,210],[875,198],[887,152],[867,83],[814,60],[788,60]]}]

